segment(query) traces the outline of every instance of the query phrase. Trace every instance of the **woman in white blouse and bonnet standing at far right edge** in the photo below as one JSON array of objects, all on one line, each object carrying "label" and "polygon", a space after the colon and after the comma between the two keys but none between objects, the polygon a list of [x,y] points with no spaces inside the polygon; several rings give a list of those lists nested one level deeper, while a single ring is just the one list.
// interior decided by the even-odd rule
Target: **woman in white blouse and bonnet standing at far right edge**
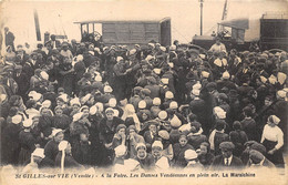
[{"label": "woman in white blouse and bonnet standing at far right edge", "polygon": [[276,115],[270,115],[267,124],[264,126],[261,142],[267,150],[267,158],[277,167],[284,167],[284,133],[278,127],[280,119]]}]

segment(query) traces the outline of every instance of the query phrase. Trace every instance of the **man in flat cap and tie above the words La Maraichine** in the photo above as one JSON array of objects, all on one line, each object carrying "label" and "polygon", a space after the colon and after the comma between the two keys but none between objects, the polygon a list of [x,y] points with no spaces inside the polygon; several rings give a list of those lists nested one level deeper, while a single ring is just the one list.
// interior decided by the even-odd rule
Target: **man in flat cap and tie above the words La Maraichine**
[{"label": "man in flat cap and tie above the words La Maraichine", "polygon": [[227,169],[227,168],[241,168],[243,162],[240,158],[233,155],[235,145],[232,142],[223,142],[219,145],[222,155],[214,158],[212,169]]}]

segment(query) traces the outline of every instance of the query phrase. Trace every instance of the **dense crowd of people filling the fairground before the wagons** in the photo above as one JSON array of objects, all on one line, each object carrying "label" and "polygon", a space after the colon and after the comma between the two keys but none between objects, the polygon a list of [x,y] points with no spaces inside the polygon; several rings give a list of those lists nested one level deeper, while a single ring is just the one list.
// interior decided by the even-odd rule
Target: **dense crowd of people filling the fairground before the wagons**
[{"label": "dense crowd of people filling the fairground before the wagons", "polygon": [[[92,41],[92,42],[91,42]],[[285,167],[287,52],[105,45],[55,35],[1,61],[1,164]]]}]

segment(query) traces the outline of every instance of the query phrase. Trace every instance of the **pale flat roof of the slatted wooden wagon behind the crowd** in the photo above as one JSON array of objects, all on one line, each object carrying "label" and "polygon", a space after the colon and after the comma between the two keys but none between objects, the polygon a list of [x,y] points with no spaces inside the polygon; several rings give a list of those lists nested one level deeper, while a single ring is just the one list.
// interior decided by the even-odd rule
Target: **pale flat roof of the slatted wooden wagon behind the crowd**
[{"label": "pale flat roof of the slatted wooden wagon behind the crowd", "polygon": [[162,19],[100,19],[100,20],[86,20],[86,21],[78,21],[74,23],[112,23],[112,22],[164,22],[169,21],[171,18],[162,18]]}]

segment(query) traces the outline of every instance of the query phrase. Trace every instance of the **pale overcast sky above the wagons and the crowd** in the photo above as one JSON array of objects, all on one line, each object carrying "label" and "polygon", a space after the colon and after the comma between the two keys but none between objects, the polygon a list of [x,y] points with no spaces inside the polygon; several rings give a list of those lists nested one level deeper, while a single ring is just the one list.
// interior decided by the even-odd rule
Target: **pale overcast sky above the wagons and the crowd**
[{"label": "pale overcast sky above the wagons and the crowd", "polygon": [[[204,33],[209,33],[222,19],[225,0],[204,0]],[[199,34],[198,0],[106,0],[104,1],[6,1],[1,19],[16,35],[16,43],[35,41],[33,9],[38,10],[43,33],[63,34],[80,40],[75,21],[97,19],[160,19],[171,17],[172,39],[188,42]],[[259,19],[266,11],[288,12],[288,2],[280,0],[228,0],[227,19]]]}]

